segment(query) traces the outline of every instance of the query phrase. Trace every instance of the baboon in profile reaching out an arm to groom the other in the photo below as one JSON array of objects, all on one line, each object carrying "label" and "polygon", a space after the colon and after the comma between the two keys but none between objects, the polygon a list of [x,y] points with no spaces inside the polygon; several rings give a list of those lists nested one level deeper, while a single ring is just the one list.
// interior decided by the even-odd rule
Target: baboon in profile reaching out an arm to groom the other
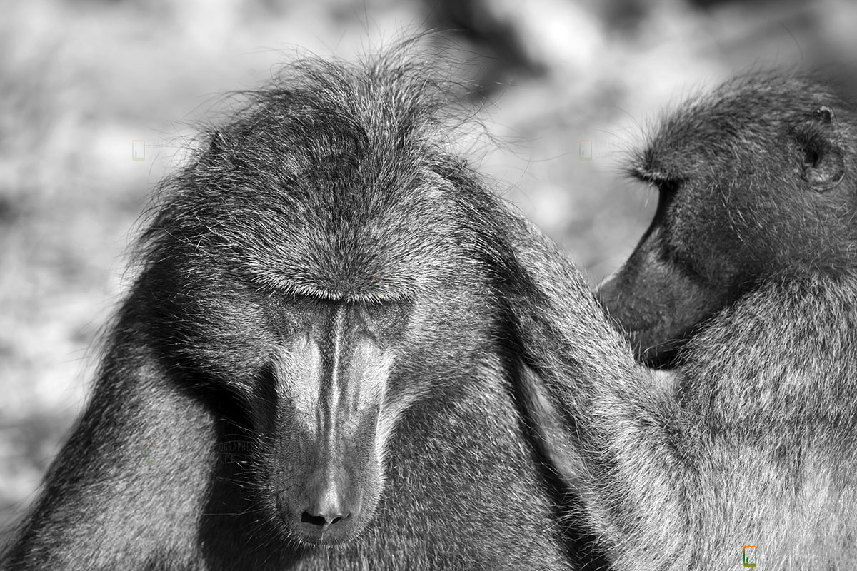
[{"label": "baboon in profile reaching out an arm to groom the other", "polygon": [[676,390],[611,348],[579,277],[521,250],[510,310],[616,569],[741,568],[745,545],[759,568],[857,566],[857,116],[830,85],[729,81],[632,165],[660,203],[598,293]]}]

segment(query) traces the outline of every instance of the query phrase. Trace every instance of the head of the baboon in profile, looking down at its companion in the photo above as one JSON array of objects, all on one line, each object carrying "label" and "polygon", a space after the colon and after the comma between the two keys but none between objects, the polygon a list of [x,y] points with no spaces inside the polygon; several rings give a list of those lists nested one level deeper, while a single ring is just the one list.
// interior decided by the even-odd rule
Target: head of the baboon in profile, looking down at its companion
[{"label": "head of the baboon in profile, looking down at its companion", "polygon": [[668,366],[761,280],[849,263],[854,138],[835,101],[808,80],[734,81],[669,116],[638,154],[630,173],[656,187],[656,214],[597,293],[640,360]]}]

